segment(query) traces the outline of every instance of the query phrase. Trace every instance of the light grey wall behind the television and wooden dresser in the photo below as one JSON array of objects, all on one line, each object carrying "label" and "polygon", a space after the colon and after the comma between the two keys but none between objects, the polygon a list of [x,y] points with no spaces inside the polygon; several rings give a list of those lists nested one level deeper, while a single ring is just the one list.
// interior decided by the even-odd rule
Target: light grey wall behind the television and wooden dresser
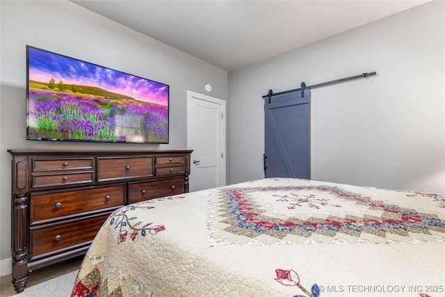
[{"label": "light grey wall behind the television and wooden dresser", "polygon": [[[227,99],[227,72],[69,1],[0,1],[1,275],[10,273],[8,149],[180,150],[186,148],[186,90]],[[26,45],[170,85],[170,144],[25,141]],[[193,175],[193,172],[192,172]]]}]

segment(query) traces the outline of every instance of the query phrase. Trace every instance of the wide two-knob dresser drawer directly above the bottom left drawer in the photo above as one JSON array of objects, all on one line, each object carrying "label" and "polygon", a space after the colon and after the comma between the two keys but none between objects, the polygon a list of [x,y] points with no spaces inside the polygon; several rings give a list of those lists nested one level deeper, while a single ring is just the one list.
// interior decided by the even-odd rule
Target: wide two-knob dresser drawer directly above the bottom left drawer
[{"label": "wide two-knob dresser drawer directly above the bottom left drawer", "polygon": [[87,211],[122,207],[125,202],[124,193],[124,184],[79,188],[72,191],[31,193],[31,226]]}]

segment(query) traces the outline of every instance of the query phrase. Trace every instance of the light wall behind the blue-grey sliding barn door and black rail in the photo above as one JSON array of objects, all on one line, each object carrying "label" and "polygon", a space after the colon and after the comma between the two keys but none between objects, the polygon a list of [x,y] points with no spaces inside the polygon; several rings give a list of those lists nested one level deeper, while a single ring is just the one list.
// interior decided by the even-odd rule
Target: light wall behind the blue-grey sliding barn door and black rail
[{"label": "light wall behind the blue-grey sliding barn door and black rail", "polygon": [[444,4],[229,72],[229,184],[264,177],[261,97],[269,89],[376,71],[312,90],[312,179],[445,193]]}]

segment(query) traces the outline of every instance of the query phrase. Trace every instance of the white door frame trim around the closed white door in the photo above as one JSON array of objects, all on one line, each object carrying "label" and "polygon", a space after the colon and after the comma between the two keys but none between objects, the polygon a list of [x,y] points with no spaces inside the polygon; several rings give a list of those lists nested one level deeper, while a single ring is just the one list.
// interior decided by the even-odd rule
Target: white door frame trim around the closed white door
[{"label": "white door frame trim around the closed white door", "polygon": [[[205,102],[210,102],[212,104],[217,104],[221,106],[223,109],[222,112],[222,120],[219,124],[219,130],[220,135],[218,136],[218,140],[220,141],[218,145],[218,154],[221,155],[221,158],[218,158],[218,168],[219,168],[219,175],[220,178],[218,179],[218,186],[225,186],[227,177],[226,177],[226,166],[227,166],[227,150],[226,150],[226,125],[227,125],[227,109],[226,109],[226,102],[223,99],[219,99],[216,97],[211,97],[209,95],[204,95],[200,93],[193,92],[191,90],[187,90],[187,147],[188,149],[192,150],[191,147],[189,147],[191,143],[191,133],[193,131],[189,131],[188,127],[191,127],[191,106],[193,99],[202,100]],[[192,153],[193,154],[193,153]],[[191,175],[193,175],[193,172],[191,172]]]}]

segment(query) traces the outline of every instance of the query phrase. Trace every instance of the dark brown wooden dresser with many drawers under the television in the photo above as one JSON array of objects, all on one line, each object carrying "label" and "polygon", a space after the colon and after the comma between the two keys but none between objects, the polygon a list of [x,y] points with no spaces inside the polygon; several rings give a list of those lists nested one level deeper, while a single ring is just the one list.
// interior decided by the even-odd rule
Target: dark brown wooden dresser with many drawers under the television
[{"label": "dark brown wooden dresser with many drawers under the television", "polygon": [[191,150],[8,150],[13,162],[13,284],[83,255],[109,214],[188,192]]}]

